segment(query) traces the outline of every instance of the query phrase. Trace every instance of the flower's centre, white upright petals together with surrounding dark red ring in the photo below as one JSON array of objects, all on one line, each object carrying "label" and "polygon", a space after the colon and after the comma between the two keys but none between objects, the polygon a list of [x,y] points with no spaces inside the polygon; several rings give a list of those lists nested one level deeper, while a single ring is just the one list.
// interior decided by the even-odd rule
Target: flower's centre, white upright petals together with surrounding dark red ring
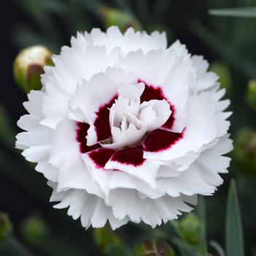
[{"label": "flower's centre, white upright petals together with surrounding dark red ring", "polygon": [[[145,151],[165,150],[182,138],[182,133],[170,131],[174,110],[160,87],[142,80],[118,86],[116,94],[95,112],[93,125],[77,122],[80,152],[104,170],[109,161],[142,165]],[[97,134],[94,145],[87,140],[90,129]]]}]

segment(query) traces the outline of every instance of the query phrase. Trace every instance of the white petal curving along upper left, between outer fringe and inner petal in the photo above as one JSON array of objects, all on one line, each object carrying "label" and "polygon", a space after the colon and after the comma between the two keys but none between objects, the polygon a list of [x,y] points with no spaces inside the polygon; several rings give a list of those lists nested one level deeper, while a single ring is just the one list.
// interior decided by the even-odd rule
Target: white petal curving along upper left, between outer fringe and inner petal
[{"label": "white petal curving along upper left, between outer fringe and inner petal", "polygon": [[[117,60],[118,49],[107,53],[104,47],[89,45],[81,48],[64,48],[61,55],[55,57],[54,77],[45,75],[42,83],[47,95],[44,97],[42,124],[55,128],[59,121],[69,113],[68,102],[82,80],[90,80],[99,72],[105,72]],[[100,61],[95,61],[100,60]]]}]

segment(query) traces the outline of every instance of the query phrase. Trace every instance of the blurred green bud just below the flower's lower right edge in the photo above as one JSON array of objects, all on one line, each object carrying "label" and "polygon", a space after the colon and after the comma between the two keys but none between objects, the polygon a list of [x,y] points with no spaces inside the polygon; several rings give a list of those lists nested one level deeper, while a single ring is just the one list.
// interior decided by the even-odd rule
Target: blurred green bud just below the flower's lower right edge
[{"label": "blurred green bud just below the flower's lower right edge", "polygon": [[178,224],[181,236],[192,245],[200,244],[201,225],[195,214],[187,214]]}]

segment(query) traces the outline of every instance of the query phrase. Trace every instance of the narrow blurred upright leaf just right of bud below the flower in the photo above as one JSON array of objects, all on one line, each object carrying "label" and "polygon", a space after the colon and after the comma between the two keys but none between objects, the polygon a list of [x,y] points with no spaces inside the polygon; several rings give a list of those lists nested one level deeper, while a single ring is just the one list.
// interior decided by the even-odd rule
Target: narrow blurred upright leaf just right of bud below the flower
[{"label": "narrow blurred upright leaf just right of bud below the flower", "polygon": [[206,202],[203,196],[198,197],[197,207],[195,213],[200,219],[201,223],[201,241],[200,251],[205,254],[207,252],[207,237],[206,237]]}]

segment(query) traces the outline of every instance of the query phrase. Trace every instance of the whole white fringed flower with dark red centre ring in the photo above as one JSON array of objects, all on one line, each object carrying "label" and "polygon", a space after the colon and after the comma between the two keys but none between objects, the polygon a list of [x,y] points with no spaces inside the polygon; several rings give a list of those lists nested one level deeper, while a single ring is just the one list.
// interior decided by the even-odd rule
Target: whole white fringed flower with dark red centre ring
[{"label": "whole white fringed flower with dark red centre ring", "polygon": [[84,227],[152,227],[192,210],[227,173],[229,100],[208,62],[165,33],[72,37],[31,91],[17,148]]}]

